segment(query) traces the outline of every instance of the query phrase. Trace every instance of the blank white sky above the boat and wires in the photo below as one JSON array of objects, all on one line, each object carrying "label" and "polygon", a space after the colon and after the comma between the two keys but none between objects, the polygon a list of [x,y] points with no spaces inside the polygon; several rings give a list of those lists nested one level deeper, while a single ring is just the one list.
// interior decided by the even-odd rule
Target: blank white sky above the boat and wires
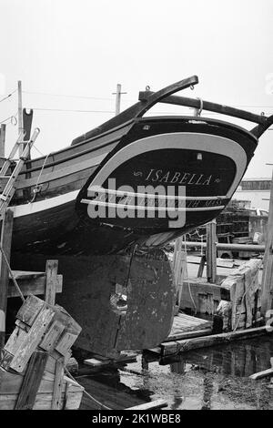
[{"label": "blank white sky above the boat and wires", "polygon": [[[117,83],[127,93],[122,109],[147,85],[158,90],[197,75],[186,96],[273,114],[272,0],[0,0],[0,13],[0,98],[21,79],[28,92],[106,98],[24,92],[24,107],[113,111],[36,110],[36,146],[45,154],[112,117]],[[0,103],[0,121],[16,102],[15,94]],[[6,132],[11,148],[16,129]],[[266,162],[273,163],[272,131],[246,176],[270,177]]]}]

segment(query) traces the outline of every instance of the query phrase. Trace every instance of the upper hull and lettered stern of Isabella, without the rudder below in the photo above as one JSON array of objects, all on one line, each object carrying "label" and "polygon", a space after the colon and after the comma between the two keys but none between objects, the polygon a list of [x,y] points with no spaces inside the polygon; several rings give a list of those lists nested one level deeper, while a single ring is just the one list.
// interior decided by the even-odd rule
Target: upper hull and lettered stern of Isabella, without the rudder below
[{"label": "upper hull and lettered stern of Isabella, without the rudder below", "polygon": [[[160,101],[188,105],[191,98],[171,94],[196,83],[190,77],[140,93],[135,106],[70,147],[25,162],[11,203],[13,250],[57,256],[154,248],[216,218],[248,168],[255,132],[198,115],[143,117]],[[231,107],[227,114],[247,115]]]}]

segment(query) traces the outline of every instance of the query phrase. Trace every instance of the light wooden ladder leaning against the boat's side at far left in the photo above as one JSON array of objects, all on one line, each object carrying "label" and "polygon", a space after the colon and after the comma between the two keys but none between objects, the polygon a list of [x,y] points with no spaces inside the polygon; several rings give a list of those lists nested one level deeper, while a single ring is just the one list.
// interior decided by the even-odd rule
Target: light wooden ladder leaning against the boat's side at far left
[{"label": "light wooden ladder leaning against the boat's side at far left", "polygon": [[[0,219],[3,219],[5,209],[10,203],[12,197],[14,196],[16,178],[24,167],[25,160],[28,159],[30,149],[34,145],[35,139],[38,137],[39,133],[40,129],[36,127],[31,138],[28,141],[23,141],[25,135],[25,132],[23,131],[15,142],[15,146],[12,148],[9,157],[5,159],[3,167],[0,169],[1,189],[3,189],[4,187],[3,191],[0,193]],[[19,152],[19,148],[22,144],[24,144],[25,146],[25,148],[23,149],[23,153],[20,158],[15,159],[15,154],[17,151]],[[11,175],[8,176],[6,174],[13,162],[16,162],[15,168],[12,171]]]}]

